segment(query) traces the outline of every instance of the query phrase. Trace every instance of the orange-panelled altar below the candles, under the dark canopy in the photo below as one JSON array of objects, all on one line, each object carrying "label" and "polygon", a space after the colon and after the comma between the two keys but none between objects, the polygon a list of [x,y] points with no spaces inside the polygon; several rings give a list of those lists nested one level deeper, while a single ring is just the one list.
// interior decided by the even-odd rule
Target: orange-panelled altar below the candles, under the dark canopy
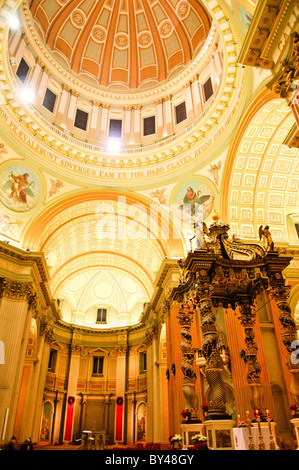
[{"label": "orange-panelled altar below the candles, under the dark canopy", "polygon": [[[271,436],[270,436],[270,429],[268,423],[260,423],[261,426],[261,433],[262,433],[262,440],[265,444],[265,450],[270,450],[270,443],[271,443]],[[279,447],[276,442],[275,436],[275,426],[276,423],[271,423],[271,434],[273,436],[273,441],[275,445],[275,450],[278,450]],[[258,426],[252,424],[250,427],[251,434],[252,434],[252,442],[254,445],[255,450],[259,450],[259,429]],[[234,447],[235,450],[248,450],[249,449],[249,430],[247,427],[239,427],[233,428],[233,435],[234,435]]]}]

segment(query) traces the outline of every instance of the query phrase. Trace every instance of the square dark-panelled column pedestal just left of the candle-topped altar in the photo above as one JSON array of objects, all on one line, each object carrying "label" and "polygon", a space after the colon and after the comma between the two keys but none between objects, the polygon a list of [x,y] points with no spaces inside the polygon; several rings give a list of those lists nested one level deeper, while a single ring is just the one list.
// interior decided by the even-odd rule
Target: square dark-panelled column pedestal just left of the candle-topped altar
[{"label": "square dark-panelled column pedestal just left of the candle-topped altar", "polygon": [[210,450],[234,450],[232,419],[205,421],[208,448]]}]

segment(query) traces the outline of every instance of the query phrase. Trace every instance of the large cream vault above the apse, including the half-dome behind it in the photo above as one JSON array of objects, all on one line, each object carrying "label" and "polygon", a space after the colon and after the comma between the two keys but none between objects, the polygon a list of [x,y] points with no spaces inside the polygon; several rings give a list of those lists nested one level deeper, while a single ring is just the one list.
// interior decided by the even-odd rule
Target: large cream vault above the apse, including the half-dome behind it
[{"label": "large cream vault above the apse, including the half-dome behind it", "polygon": [[25,244],[45,254],[52,293],[65,301],[62,316],[93,327],[91,309],[102,306],[113,308],[114,326],[116,317],[136,323],[164,258],[184,253],[181,235],[158,206],[115,191],[53,204],[31,223]]}]

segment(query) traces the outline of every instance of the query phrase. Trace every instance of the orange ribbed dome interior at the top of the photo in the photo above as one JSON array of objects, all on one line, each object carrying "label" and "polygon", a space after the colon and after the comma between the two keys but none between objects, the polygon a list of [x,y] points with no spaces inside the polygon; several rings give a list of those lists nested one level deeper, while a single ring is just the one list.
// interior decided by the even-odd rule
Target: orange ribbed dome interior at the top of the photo
[{"label": "orange ribbed dome interior at the top of the photo", "polygon": [[33,0],[30,10],[62,65],[115,89],[173,77],[210,30],[197,0]]}]

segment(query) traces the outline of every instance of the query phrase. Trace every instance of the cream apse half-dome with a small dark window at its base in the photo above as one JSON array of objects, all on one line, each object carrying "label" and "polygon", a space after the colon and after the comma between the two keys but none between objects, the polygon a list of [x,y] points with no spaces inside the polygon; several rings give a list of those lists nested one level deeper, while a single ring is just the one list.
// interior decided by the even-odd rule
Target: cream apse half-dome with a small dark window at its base
[{"label": "cream apse half-dome with a small dark window at its base", "polygon": [[[88,266],[76,270],[59,288],[64,320],[84,326],[109,328],[136,324],[149,301],[142,282],[133,272],[115,266]],[[106,324],[95,324],[97,308],[108,310]]]}]

